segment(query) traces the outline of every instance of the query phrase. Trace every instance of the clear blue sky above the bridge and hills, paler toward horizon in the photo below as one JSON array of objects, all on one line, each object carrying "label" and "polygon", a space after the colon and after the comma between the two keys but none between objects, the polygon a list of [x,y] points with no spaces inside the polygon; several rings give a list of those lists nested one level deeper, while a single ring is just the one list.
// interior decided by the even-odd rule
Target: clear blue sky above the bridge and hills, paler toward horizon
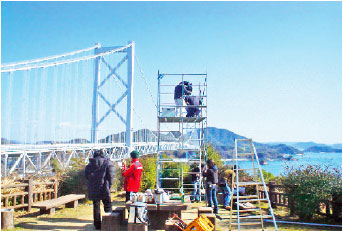
[{"label": "clear blue sky above the bridge and hills, paler toward horizon", "polygon": [[[133,40],[154,96],[158,70],[208,73],[209,126],[260,142],[337,143],[341,7],[341,2],[1,2],[1,59],[16,62]],[[138,69],[135,107],[144,125],[154,129],[154,106],[137,75]],[[16,110],[13,106],[12,116]],[[2,111],[4,127],[8,114],[4,106]],[[49,121],[43,115],[40,123]],[[139,127],[143,124],[135,122]]]}]

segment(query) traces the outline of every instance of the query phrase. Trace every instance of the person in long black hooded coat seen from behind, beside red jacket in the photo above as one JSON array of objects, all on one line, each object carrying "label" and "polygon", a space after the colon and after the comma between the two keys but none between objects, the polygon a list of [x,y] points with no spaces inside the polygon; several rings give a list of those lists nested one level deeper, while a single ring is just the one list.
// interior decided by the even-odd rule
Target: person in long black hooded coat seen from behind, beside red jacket
[{"label": "person in long black hooded coat seen from behind, beside red jacket", "polygon": [[94,152],[94,158],[89,159],[86,166],[88,180],[88,197],[93,201],[93,218],[95,229],[101,229],[100,201],[104,204],[106,213],[112,212],[111,186],[114,177],[114,166],[105,158],[103,150]]}]

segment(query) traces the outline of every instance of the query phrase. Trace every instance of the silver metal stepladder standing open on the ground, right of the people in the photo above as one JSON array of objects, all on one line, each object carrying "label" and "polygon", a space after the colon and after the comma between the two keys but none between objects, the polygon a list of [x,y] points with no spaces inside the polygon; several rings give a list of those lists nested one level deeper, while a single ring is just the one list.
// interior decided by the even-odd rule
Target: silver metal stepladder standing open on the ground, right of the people
[{"label": "silver metal stepladder standing open on the ground, right of the people", "polygon": [[[248,161],[251,162],[251,168],[239,168],[239,162],[242,161],[242,157],[247,157]],[[255,163],[255,161],[257,163]],[[236,189],[236,196],[232,195],[231,199],[231,209],[230,209],[230,228],[229,230],[233,230],[233,226],[237,227],[237,230],[241,230],[241,226],[249,227],[249,226],[260,226],[261,230],[265,230],[265,226],[263,223],[263,219],[265,218],[272,218],[274,228],[277,231],[277,225],[273,213],[273,209],[271,207],[271,203],[269,200],[267,187],[263,179],[262,169],[259,163],[258,155],[256,153],[255,146],[252,142],[252,139],[236,139],[235,140],[235,149],[233,155],[233,166],[232,166],[232,184],[231,184],[231,192],[234,192]],[[242,171],[249,173],[252,171],[252,180],[243,181],[242,177],[240,178],[239,175]],[[244,186],[253,186],[255,190],[251,190],[254,193],[250,193],[252,195],[244,195],[240,196],[240,188]],[[265,198],[261,198],[260,195],[260,186],[263,186]],[[234,204],[234,200],[237,202]],[[269,214],[265,214],[265,210],[262,210],[262,202],[267,202]],[[247,204],[248,203],[248,204]],[[257,203],[257,204],[252,204]],[[235,206],[236,205],[236,206]],[[236,207],[234,210],[233,207]],[[240,208],[242,207],[242,209]],[[234,220],[236,222],[234,222]],[[243,220],[243,222],[241,221]],[[244,230],[244,229],[243,229]],[[254,229],[257,230],[257,229]]]}]

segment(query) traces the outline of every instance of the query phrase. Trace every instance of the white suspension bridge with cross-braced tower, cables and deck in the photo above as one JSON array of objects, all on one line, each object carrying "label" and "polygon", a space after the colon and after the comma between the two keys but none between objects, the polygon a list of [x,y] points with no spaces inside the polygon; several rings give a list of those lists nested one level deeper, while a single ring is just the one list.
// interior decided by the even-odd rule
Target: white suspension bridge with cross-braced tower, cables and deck
[{"label": "white suspension bridge with cross-braced tower, cables and deck", "polygon": [[[135,65],[136,64],[136,65]],[[30,61],[3,64],[1,174],[49,174],[103,149],[113,161],[176,150],[179,136],[158,139],[134,107],[135,66],[156,109],[135,56],[135,43],[93,47]],[[141,96],[139,96],[141,97]],[[156,111],[151,116],[156,116]],[[143,129],[134,131],[134,121]]]}]

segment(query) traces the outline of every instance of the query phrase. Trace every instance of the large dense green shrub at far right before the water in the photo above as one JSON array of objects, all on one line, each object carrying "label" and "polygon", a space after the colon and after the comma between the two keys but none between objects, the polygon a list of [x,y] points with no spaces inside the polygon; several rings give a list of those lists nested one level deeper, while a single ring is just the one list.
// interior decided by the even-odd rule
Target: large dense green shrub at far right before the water
[{"label": "large dense green shrub at far right before the water", "polygon": [[311,219],[320,202],[331,200],[333,194],[342,201],[342,180],[338,169],[320,165],[287,167],[282,183],[289,201],[293,201],[295,214],[301,219]]}]

